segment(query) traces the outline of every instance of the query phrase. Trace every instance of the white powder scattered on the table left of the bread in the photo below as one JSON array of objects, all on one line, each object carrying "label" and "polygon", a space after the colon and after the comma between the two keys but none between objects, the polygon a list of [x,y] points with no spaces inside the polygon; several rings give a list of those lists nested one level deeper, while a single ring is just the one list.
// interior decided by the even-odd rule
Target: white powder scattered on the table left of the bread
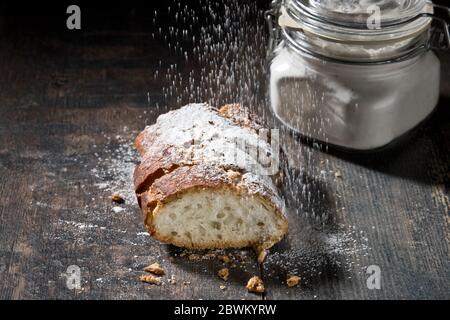
[{"label": "white powder scattered on the table left of the bread", "polygon": [[80,154],[72,159],[86,168],[84,179],[74,182],[63,176],[61,183],[90,201],[75,202],[60,210],[60,219],[53,222],[55,231],[46,235],[49,239],[79,245],[148,244],[149,238],[141,235],[145,232],[136,219],[138,205],[133,186],[136,132],[127,127],[120,128],[119,132],[119,135],[103,134],[104,143],[92,146],[94,159],[92,154],[89,157]]}]

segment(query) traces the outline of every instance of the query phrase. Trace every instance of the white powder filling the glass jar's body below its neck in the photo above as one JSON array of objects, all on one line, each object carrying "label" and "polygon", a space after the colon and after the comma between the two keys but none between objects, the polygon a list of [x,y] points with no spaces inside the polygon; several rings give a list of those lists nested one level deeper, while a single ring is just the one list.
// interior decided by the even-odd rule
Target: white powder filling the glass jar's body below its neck
[{"label": "white powder filling the glass jar's body below its neck", "polygon": [[285,125],[303,135],[374,149],[432,112],[439,67],[431,51],[402,62],[355,65],[319,60],[282,42],[270,65],[271,106]]}]

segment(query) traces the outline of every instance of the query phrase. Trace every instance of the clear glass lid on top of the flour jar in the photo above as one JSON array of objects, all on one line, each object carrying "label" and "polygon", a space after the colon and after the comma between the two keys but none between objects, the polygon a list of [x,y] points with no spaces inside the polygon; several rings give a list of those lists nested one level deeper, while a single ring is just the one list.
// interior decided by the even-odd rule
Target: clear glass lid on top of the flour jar
[{"label": "clear glass lid on top of the flour jar", "polygon": [[[433,14],[428,0],[284,0],[281,9],[281,27],[357,42],[415,37]],[[371,26],[374,14],[379,25]]]}]

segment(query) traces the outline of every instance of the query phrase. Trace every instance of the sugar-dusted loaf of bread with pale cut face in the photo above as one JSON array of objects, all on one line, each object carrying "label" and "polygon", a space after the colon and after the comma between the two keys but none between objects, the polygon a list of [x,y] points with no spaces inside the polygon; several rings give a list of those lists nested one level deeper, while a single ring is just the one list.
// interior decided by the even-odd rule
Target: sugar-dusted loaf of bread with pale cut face
[{"label": "sugar-dusted loaf of bread with pale cut face", "polygon": [[255,157],[274,155],[260,130],[237,104],[189,104],[146,127],[135,141],[134,183],[150,235],[196,249],[263,250],[280,241],[288,224],[273,177]]}]

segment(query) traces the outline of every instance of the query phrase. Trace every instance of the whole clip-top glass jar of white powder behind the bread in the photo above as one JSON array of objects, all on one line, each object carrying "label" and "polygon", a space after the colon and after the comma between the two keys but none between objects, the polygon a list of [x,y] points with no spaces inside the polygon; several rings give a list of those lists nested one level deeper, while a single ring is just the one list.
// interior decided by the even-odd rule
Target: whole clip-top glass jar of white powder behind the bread
[{"label": "whole clip-top glass jar of white powder behind the bread", "polygon": [[[354,150],[384,147],[434,110],[450,10],[426,0],[274,1],[269,96],[283,124]],[[274,23],[275,22],[275,23]]]}]

